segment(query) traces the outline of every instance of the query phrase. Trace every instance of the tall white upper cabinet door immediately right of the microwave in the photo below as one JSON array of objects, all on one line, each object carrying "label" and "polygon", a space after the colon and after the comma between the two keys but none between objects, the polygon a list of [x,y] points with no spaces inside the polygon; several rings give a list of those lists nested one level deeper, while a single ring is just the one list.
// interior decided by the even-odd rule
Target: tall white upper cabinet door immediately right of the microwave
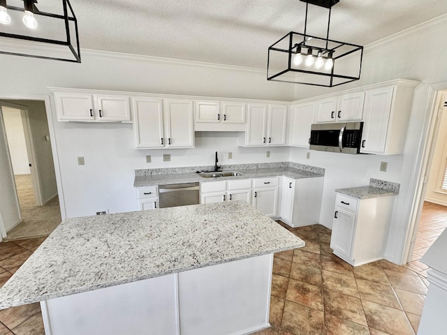
[{"label": "tall white upper cabinet door immediately right of the microwave", "polygon": [[393,87],[388,87],[366,92],[365,122],[363,124],[360,152],[365,154],[384,153],[393,101],[393,89]]}]

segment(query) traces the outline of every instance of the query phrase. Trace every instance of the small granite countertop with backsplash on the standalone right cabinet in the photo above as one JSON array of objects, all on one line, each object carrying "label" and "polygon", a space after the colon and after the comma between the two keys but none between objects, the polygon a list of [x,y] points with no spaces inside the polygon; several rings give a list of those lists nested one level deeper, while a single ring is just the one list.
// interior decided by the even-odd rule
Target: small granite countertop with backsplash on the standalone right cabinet
[{"label": "small granite countertop with backsplash on the standalone right cabinet", "polygon": [[380,179],[369,179],[369,186],[339,188],[335,192],[355,199],[389,197],[399,194],[400,184]]}]

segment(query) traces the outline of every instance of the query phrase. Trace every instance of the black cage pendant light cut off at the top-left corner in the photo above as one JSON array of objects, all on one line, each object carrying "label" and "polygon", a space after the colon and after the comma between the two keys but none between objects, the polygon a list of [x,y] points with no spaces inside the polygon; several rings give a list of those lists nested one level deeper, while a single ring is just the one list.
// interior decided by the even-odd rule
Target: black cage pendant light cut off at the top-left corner
[{"label": "black cage pendant light cut off at the top-left corner", "polygon": [[78,20],[70,1],[52,2],[54,13],[47,13],[38,10],[37,0],[0,0],[0,54],[80,63]]}]

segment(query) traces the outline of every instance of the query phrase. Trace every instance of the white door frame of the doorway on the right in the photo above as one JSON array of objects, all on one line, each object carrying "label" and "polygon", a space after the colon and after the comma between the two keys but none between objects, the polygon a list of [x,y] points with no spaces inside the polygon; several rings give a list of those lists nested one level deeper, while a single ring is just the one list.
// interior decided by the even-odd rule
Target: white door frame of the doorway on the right
[{"label": "white door frame of the doorway on the right", "polygon": [[411,254],[416,242],[416,234],[422,213],[425,191],[427,189],[428,174],[432,165],[434,147],[436,145],[437,133],[439,130],[439,103],[444,97],[444,91],[447,90],[447,82],[430,84],[427,90],[427,100],[425,103],[425,121],[423,132],[420,135],[418,153],[413,165],[413,175],[417,176],[410,181],[410,190],[414,189],[413,194],[409,194],[407,201],[410,201],[409,225],[406,229],[406,239],[400,264],[411,262]]}]

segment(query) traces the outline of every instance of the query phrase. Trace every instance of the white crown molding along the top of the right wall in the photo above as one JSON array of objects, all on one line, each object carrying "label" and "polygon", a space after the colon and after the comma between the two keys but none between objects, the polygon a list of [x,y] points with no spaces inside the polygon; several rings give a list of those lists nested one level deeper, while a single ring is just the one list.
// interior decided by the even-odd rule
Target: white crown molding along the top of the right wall
[{"label": "white crown molding along the top of the right wall", "polygon": [[390,45],[394,45],[396,43],[400,43],[403,40],[413,38],[420,34],[425,34],[428,31],[433,29],[438,29],[439,27],[444,27],[447,25],[447,14],[435,17],[432,20],[425,21],[420,24],[416,24],[408,29],[404,29],[399,31],[396,34],[387,36],[386,38],[382,38],[381,40],[376,40],[373,43],[369,43],[363,47],[364,52],[370,52],[374,50],[379,50],[383,47],[388,47]]}]

